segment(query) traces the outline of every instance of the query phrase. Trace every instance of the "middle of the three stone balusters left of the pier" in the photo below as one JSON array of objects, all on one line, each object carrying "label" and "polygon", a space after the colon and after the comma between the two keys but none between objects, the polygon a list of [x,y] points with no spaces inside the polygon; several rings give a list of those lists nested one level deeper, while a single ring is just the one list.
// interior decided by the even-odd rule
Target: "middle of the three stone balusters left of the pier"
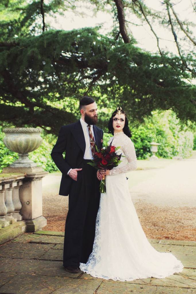
[{"label": "middle of the three stone balusters left of the pier", "polygon": [[16,185],[16,182],[10,183],[9,188],[5,190],[5,205],[7,208],[6,220],[8,220],[10,224],[17,222],[17,219],[13,217],[14,203],[12,200],[12,190]]}]

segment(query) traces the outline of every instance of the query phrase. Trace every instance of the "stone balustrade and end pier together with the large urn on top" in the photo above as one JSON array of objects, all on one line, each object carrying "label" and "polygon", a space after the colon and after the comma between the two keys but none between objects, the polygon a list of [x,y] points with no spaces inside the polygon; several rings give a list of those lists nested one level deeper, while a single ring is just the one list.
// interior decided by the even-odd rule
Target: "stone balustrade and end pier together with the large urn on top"
[{"label": "stone balustrade and end pier together with the large urn on top", "polygon": [[5,128],[4,144],[19,158],[0,173],[0,244],[24,232],[41,230],[43,171],[28,158],[42,142],[39,128]]}]

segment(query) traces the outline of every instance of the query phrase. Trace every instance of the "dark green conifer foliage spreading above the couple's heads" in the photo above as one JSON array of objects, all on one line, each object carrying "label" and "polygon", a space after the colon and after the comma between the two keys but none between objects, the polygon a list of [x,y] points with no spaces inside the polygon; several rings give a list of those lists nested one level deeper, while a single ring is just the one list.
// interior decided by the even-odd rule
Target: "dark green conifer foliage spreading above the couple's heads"
[{"label": "dark green conifer foliage spreading above the couple's heads", "polygon": [[[107,2],[118,20],[114,1],[90,2],[97,9]],[[131,11],[141,17],[132,2]],[[44,24],[43,14],[45,21],[46,16],[58,17],[75,9],[77,1],[42,4],[41,8],[39,0],[0,3],[2,121],[40,126],[57,135],[63,124],[78,118],[78,101],[84,94],[97,98],[100,126],[105,129],[108,112],[119,104],[133,121],[143,122],[156,109],[172,109],[184,122],[195,120],[196,87],[186,82],[193,71],[184,70],[180,57],[151,54],[138,48],[132,37],[125,44],[112,32],[101,35],[98,27],[54,30]],[[195,68],[191,54],[183,58],[189,69]]]}]

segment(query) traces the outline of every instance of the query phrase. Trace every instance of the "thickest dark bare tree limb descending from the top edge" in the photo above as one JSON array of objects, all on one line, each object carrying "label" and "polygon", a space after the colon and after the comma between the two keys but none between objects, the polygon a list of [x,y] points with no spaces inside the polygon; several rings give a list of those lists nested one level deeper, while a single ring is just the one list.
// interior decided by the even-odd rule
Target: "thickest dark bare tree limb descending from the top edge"
[{"label": "thickest dark bare tree limb descending from the top edge", "polygon": [[121,0],[114,0],[115,5],[117,7],[118,12],[118,22],[119,22],[119,30],[120,34],[125,43],[130,43],[130,39],[125,26],[125,14],[124,14],[124,6]]}]

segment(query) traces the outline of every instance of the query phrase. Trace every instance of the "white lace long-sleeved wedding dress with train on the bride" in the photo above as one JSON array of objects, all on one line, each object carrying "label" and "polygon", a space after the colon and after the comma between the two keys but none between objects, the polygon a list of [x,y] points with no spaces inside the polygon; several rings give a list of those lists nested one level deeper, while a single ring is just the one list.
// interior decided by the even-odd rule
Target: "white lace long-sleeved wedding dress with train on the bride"
[{"label": "white lace long-sleeved wedding dress with train on the bride", "polygon": [[93,277],[132,281],[165,278],[183,269],[171,253],[160,253],[148,242],[133,206],[126,172],[136,169],[135,148],[123,132],[115,134],[122,162],[106,176],[106,193],[101,194],[96,219],[93,252],[80,269]]}]

